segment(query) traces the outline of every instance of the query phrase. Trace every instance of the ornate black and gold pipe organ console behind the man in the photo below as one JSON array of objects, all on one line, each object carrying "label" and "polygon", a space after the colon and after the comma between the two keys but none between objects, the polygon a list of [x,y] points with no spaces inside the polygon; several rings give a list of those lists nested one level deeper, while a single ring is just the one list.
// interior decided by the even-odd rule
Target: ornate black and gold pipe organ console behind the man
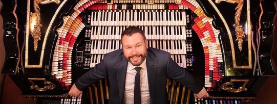
[{"label": "ornate black and gold pipe organ console behind the man", "polygon": [[125,28],[137,26],[149,47],[171,53],[210,94],[194,99],[189,89],[168,79],[169,103],[242,103],[255,99],[275,75],[274,2],[2,0],[2,73],[24,97],[41,103],[107,103],[108,79],[92,84],[81,99],[67,93],[106,53],[122,47]]}]

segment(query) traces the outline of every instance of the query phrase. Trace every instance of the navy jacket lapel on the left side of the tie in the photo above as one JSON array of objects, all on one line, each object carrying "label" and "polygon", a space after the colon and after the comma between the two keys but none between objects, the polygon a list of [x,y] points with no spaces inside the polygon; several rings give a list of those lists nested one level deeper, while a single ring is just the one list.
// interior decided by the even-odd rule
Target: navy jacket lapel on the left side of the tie
[{"label": "navy jacket lapel on the left side of the tie", "polygon": [[117,63],[116,65],[120,103],[122,103],[123,95],[124,95],[127,64],[128,64],[127,60],[122,55],[122,57],[119,60],[119,63]]}]

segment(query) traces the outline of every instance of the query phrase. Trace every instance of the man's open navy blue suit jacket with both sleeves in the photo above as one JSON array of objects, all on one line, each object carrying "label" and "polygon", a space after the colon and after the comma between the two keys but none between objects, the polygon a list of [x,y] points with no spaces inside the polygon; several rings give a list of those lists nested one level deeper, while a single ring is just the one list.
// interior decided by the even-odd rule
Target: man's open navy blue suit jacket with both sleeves
[{"label": "man's open navy blue suit jacket with both sleeves", "polygon": [[[123,50],[118,49],[105,55],[95,67],[83,74],[75,83],[79,90],[87,88],[94,82],[109,76],[109,103],[122,103],[125,89],[127,60]],[[189,72],[185,71],[166,51],[149,47],[146,57],[148,85],[151,103],[166,103],[167,76],[186,86],[194,93],[199,93],[203,86]]]}]

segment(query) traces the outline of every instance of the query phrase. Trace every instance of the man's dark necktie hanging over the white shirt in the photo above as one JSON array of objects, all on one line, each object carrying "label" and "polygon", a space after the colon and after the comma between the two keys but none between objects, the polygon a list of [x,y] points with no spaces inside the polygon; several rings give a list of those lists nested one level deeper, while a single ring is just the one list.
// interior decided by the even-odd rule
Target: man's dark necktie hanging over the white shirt
[{"label": "man's dark necktie hanging over the white shirt", "polygon": [[141,103],[141,97],[140,97],[140,69],[141,67],[135,68],[137,71],[136,77],[135,77],[135,89],[134,89],[134,104],[140,104]]}]

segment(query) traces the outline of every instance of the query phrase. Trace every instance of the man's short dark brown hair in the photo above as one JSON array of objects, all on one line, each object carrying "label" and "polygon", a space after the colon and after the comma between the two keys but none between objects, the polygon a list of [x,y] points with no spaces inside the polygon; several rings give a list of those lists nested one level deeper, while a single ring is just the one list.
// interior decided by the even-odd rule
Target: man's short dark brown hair
[{"label": "man's short dark brown hair", "polygon": [[[122,37],[123,37],[124,35],[132,36],[132,35],[135,34],[135,33],[140,33],[140,34],[142,35],[142,37],[143,37],[143,40],[146,40],[146,37],[145,37],[145,35],[144,35],[143,30],[141,30],[140,28],[135,27],[135,26],[131,26],[131,27],[126,28],[126,29],[122,32],[122,34],[121,34],[121,40],[122,40]],[[121,41],[121,42],[122,42],[122,41]]]}]

